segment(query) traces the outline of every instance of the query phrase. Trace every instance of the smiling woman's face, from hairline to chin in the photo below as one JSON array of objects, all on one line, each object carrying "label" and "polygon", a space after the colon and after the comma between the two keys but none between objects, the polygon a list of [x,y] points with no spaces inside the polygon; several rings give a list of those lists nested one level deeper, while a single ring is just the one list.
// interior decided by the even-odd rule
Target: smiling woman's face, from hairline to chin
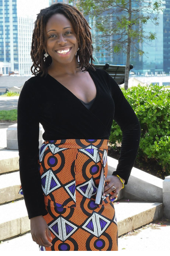
[{"label": "smiling woman's face, from hairline to chin", "polygon": [[[78,50],[77,35],[69,19],[63,14],[52,15],[46,25],[47,52],[52,61],[69,64]],[[65,52],[62,52],[65,51]]]}]

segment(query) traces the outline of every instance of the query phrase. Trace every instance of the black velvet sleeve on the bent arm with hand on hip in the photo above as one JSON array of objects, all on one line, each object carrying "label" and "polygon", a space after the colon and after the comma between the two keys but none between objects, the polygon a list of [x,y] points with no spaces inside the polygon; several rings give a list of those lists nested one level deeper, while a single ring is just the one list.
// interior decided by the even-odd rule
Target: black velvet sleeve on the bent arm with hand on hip
[{"label": "black velvet sleeve on the bent arm with hand on hip", "polygon": [[124,184],[126,185],[138,153],[141,127],[132,106],[124,97],[119,85],[110,75],[108,76],[115,103],[114,120],[122,131],[120,157],[116,171],[112,175],[118,174],[125,180]]}]

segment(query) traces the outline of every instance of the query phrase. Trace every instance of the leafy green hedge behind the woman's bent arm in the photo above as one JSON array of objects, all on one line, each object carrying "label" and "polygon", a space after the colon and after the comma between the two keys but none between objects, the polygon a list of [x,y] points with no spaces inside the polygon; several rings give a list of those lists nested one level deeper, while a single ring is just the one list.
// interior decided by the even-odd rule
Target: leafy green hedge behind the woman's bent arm
[{"label": "leafy green hedge behind the woman's bent arm", "polygon": [[[162,89],[163,88],[163,89]],[[150,84],[131,87],[122,92],[135,111],[141,126],[141,138],[136,157],[148,162],[148,158],[157,160],[162,170],[170,173],[170,89]],[[121,143],[122,131],[115,121],[112,124],[109,142]]]}]

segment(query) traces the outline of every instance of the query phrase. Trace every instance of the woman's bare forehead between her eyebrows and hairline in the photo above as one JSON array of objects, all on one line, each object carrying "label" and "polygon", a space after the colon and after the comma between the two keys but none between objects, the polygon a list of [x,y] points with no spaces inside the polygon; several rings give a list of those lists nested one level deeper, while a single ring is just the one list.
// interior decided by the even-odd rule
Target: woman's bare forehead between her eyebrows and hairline
[{"label": "woman's bare forehead between her eyebrows and hairline", "polygon": [[68,18],[66,18],[63,14],[61,13],[57,13],[57,14],[53,14],[46,25],[46,32],[48,32],[49,30],[63,30],[64,28],[67,27],[71,27],[72,28],[72,24],[70,22],[70,20]]}]

